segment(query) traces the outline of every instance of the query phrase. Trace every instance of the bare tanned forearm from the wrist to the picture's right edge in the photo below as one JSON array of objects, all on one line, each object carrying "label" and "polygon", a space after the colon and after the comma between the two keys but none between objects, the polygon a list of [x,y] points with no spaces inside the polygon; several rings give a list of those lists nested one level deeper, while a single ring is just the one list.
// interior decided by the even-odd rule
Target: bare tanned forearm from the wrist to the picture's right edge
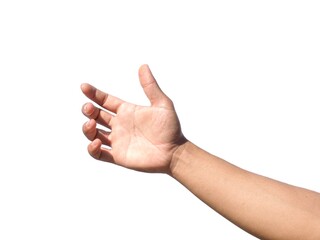
[{"label": "bare tanned forearm from the wrist to the picture's right edge", "polygon": [[195,146],[175,153],[172,176],[245,231],[262,239],[320,239],[320,194],[238,168]]}]

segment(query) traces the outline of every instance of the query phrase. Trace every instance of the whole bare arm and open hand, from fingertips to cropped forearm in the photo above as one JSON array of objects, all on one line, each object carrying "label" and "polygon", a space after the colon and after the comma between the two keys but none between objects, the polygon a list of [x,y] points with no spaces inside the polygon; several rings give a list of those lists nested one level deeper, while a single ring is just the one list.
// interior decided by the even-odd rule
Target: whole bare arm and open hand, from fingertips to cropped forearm
[{"label": "whole bare arm and open hand, from fingertips to cropped forearm", "polygon": [[[182,134],[172,101],[149,67],[139,69],[150,106],[138,106],[89,84],[83,125],[89,154],[144,172],[172,176],[238,227],[261,239],[320,239],[320,194],[241,169]],[[99,124],[102,128],[97,128]]]}]

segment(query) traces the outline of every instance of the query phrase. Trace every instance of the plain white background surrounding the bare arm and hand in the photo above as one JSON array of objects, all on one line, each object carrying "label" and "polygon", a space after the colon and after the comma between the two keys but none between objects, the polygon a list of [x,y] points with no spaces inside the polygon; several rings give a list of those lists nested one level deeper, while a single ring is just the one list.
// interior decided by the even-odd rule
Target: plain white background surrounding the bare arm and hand
[{"label": "plain white background surrounding the bare arm and hand", "polygon": [[0,239],[255,239],[168,176],[87,154],[90,82],[148,104],[148,63],[184,134],[320,191],[318,1],[0,1]]}]

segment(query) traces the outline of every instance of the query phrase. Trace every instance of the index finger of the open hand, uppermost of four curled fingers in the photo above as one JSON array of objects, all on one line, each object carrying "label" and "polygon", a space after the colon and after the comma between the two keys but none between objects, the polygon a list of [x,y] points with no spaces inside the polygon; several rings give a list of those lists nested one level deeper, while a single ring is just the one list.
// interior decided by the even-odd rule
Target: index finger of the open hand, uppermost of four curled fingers
[{"label": "index finger of the open hand, uppermost of four curled fingers", "polygon": [[81,90],[89,99],[114,113],[116,113],[120,105],[124,103],[123,100],[102,92],[88,83],[81,84]]}]

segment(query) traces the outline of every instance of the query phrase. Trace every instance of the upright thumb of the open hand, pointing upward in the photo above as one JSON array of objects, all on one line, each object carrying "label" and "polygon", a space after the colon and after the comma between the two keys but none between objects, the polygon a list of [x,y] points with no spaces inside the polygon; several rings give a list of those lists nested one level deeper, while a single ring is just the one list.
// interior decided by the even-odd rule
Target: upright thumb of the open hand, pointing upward
[{"label": "upright thumb of the open hand, pointing upward", "polygon": [[140,84],[152,106],[168,106],[171,100],[162,92],[147,64],[139,68]]}]

